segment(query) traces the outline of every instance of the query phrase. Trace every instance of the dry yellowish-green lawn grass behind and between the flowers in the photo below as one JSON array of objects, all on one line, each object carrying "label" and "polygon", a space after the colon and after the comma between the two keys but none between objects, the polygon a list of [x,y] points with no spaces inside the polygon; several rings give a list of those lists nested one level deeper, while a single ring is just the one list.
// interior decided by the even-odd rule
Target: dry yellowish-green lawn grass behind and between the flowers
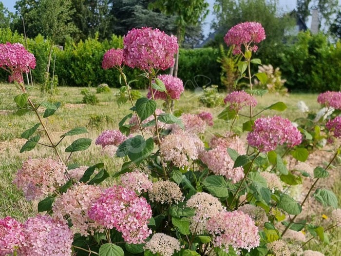
[{"label": "dry yellowish-green lawn grass behind and between the flowers", "polygon": [[[96,105],[82,104],[82,95],[80,91],[83,88],[80,87],[58,87],[58,93],[56,95],[41,95],[38,89],[33,89],[29,92],[30,97],[34,101],[60,101],[61,107],[58,109],[55,115],[46,120],[47,127],[51,131],[54,141],[58,141],[61,134],[71,130],[74,127],[85,126],[87,127],[89,134],[79,135],[72,138],[65,139],[60,144],[60,154],[62,158],[66,159],[68,155],[63,152],[76,138],[86,137],[92,138],[93,143],[86,151],[73,154],[70,162],[80,163],[81,165],[92,165],[98,162],[104,162],[106,169],[109,173],[113,174],[119,170],[122,161],[118,158],[110,158],[101,154],[101,148],[95,145],[95,138],[106,129],[117,129],[118,122],[131,111],[129,108],[131,105],[129,102],[118,107],[115,102],[114,93],[117,89],[111,89],[111,93],[96,94],[100,103]],[[95,92],[95,88],[90,88]],[[146,91],[141,91],[142,95],[146,95]],[[19,94],[19,90],[13,84],[0,84],[0,218],[5,216],[13,216],[18,220],[23,221],[25,218],[34,216],[37,213],[37,202],[27,202],[23,197],[21,191],[18,191],[12,184],[12,180],[20,168],[22,161],[25,161],[28,157],[48,157],[54,156],[54,152],[50,148],[46,148],[38,145],[34,150],[19,154],[21,146],[25,143],[24,139],[20,139],[21,133],[31,128],[38,122],[37,117],[33,114],[27,114],[22,117],[15,115],[17,110],[16,104],[13,98]],[[213,127],[208,129],[205,137],[212,136],[213,133],[223,134],[229,129],[229,124],[218,120],[218,114],[224,109],[224,106],[209,109],[203,107],[199,103],[199,93],[193,91],[186,91],[181,99],[175,103],[175,110],[187,113],[198,113],[201,111],[210,112],[215,120]],[[288,96],[279,96],[267,94],[264,97],[256,97],[258,105],[254,110],[254,113],[260,112],[263,108],[277,102],[283,101],[288,108],[284,112],[265,111],[262,113],[265,116],[281,115],[282,117],[294,120],[296,118],[304,117],[305,114],[301,113],[296,104],[298,101],[303,100],[312,112],[319,110],[320,105],[316,102],[316,94],[290,94]],[[158,101],[158,106],[162,106],[162,102]],[[89,125],[91,117],[103,117],[98,125]],[[108,120],[108,121],[107,121]],[[241,118],[239,123],[243,123],[245,120]],[[42,139],[44,134],[40,134]],[[42,141],[43,141],[42,140]],[[108,180],[107,182],[114,182]],[[339,181],[338,181],[339,182]],[[341,200],[341,183],[335,183],[335,193]],[[339,201],[340,201],[339,200]],[[337,255],[340,232],[333,233],[335,237],[335,243],[331,246],[333,248],[328,249],[327,246],[323,247],[325,255]],[[331,237],[330,237],[331,238]],[[320,243],[312,241],[310,244],[312,247],[321,247]],[[309,245],[309,248],[310,248]],[[316,250],[319,250],[316,248]],[[320,250],[322,251],[322,250]]]}]

